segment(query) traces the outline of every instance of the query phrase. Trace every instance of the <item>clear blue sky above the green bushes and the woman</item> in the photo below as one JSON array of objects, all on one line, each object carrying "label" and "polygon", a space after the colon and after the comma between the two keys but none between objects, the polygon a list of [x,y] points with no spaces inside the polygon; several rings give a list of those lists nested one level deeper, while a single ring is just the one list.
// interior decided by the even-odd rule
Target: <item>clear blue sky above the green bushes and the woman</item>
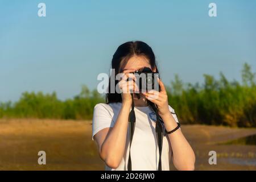
[{"label": "clear blue sky above the green bushes and the woman", "polygon": [[[46,17],[38,4],[46,3]],[[210,18],[208,5],[217,5]],[[0,0],[0,101],[22,92],[97,87],[117,47],[142,40],[155,52],[166,85],[179,74],[241,81],[242,64],[256,70],[256,1],[14,1]]]}]

